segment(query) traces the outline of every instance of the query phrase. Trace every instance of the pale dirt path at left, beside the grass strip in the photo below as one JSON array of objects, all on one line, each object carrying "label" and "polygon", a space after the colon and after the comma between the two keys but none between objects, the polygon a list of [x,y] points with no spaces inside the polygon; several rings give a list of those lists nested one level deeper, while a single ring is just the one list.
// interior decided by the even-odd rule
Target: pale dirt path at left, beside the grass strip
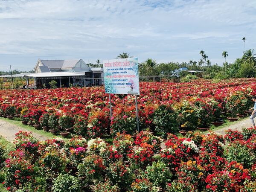
[{"label": "pale dirt path at left, beside the grass strip", "polygon": [[[6,122],[2,119],[0,119],[0,135],[5,137],[6,140],[8,140],[9,142],[12,142],[15,139],[15,134],[18,131],[28,131],[26,129],[20,128],[16,125],[13,125],[9,122]],[[49,138],[47,137],[43,137],[37,133],[32,133],[32,135],[37,138],[38,140],[47,140]]]}]

